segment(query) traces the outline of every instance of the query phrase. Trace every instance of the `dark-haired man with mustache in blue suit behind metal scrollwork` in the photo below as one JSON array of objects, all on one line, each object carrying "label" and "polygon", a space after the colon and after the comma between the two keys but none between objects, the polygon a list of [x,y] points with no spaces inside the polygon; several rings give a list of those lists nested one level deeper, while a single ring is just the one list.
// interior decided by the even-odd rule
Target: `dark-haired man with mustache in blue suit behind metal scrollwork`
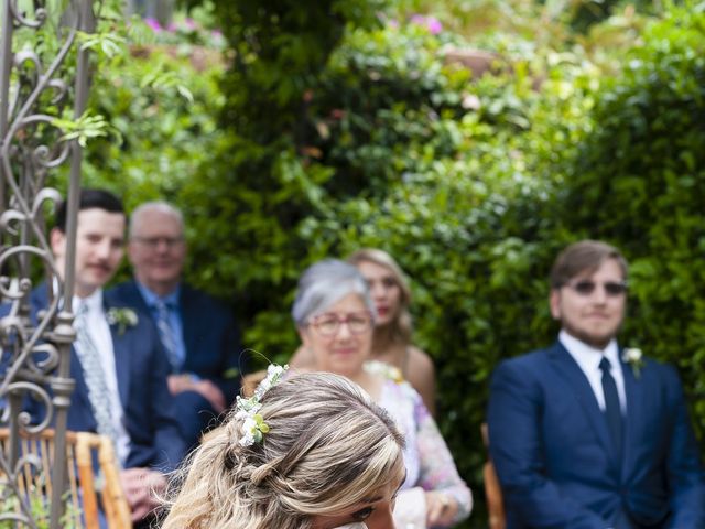
[{"label": "dark-haired man with mustache in blue suit behind metal scrollwork", "polygon": [[[76,228],[73,311],[77,339],[70,373],[68,429],[109,435],[121,467],[126,497],[137,523],[156,507],[164,472],[185,452],[166,388],[169,365],[156,330],[124,305],[104,295],[124,252],[121,201],[104,190],[82,190]],[[66,203],[56,213],[51,246],[59,276],[67,256]],[[57,285],[54,285],[57,287]],[[32,292],[34,312],[48,304],[46,283]],[[56,290],[56,289],[55,289]]]}]

